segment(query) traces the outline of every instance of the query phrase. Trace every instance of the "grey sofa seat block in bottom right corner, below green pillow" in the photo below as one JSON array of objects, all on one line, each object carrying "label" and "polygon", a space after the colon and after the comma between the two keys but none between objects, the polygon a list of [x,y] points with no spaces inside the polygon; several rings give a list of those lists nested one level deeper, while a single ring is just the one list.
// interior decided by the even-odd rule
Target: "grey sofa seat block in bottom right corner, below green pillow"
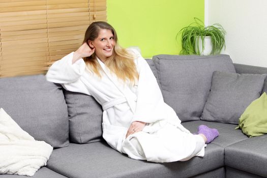
[{"label": "grey sofa seat block in bottom right corner, below green pillow", "polygon": [[267,135],[248,138],[225,149],[225,165],[267,177]]}]

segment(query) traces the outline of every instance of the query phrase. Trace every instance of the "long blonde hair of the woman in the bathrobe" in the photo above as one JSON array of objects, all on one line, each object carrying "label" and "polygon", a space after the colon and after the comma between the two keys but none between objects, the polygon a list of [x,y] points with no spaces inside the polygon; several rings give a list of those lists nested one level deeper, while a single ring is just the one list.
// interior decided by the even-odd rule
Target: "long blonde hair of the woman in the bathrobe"
[{"label": "long blonde hair of the woman in the bathrobe", "polygon": [[[83,43],[86,42],[88,44],[89,40],[94,41],[98,37],[100,29],[109,29],[112,32],[115,41],[112,55],[107,58],[105,65],[119,79],[122,79],[124,82],[129,80],[131,83],[134,83],[135,80],[138,79],[136,65],[133,60],[134,56],[117,44],[116,31],[110,24],[104,21],[91,23],[85,32]],[[83,60],[89,69],[91,69],[97,76],[101,77],[100,71],[102,68],[97,61],[96,53],[93,53],[89,57],[84,57]]]}]

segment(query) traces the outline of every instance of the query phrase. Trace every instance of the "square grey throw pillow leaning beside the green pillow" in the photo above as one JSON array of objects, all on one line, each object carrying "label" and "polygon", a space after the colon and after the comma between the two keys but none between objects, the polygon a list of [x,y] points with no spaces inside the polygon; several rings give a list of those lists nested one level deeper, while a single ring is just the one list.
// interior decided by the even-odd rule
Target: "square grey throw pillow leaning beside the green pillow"
[{"label": "square grey throw pillow leaning beside the green pillow", "polygon": [[238,124],[239,117],[260,97],[266,74],[214,72],[201,120]]}]

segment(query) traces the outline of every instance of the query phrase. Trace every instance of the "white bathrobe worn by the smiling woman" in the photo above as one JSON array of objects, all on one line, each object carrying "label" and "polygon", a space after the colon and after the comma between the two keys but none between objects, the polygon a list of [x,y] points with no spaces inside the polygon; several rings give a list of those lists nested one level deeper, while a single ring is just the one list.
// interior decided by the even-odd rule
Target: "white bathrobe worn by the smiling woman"
[{"label": "white bathrobe worn by the smiling woman", "polygon": [[[88,70],[82,58],[72,64],[73,52],[56,61],[46,78],[62,84],[68,91],[93,96],[103,108],[103,138],[113,149],[130,158],[173,162],[204,156],[204,141],[181,125],[175,111],[164,103],[147,62],[137,50],[130,51],[135,55],[139,73],[135,85],[122,82],[99,58],[103,69],[101,78]],[[134,121],[147,124],[142,131],[126,138]]]}]

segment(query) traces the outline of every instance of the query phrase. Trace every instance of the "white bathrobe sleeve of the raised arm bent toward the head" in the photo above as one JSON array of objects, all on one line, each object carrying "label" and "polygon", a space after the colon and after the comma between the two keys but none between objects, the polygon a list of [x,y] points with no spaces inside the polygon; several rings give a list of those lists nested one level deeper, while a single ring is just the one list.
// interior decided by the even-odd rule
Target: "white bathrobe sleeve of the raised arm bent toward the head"
[{"label": "white bathrobe sleeve of the raised arm bent toward the head", "polygon": [[72,64],[73,53],[56,61],[48,70],[46,79],[60,83],[65,90],[90,95],[85,84],[80,80],[85,72],[85,63],[82,58]]}]

